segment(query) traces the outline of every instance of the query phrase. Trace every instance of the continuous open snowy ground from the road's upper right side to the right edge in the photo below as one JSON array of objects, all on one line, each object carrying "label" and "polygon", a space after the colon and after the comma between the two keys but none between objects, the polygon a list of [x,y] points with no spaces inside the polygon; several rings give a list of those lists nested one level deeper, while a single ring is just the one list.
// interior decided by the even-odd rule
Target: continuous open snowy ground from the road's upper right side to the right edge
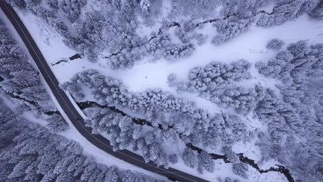
[{"label": "continuous open snowy ground from the road's upper right side to the right edge", "polygon": [[[45,33],[52,30],[38,17],[25,12],[19,12],[19,17],[25,23],[49,64],[78,53],[68,48],[58,34]],[[204,29],[212,32],[208,25]],[[170,62],[164,59],[153,63],[141,61],[129,70],[111,70],[102,63],[104,60],[90,63],[86,58],[83,58],[53,65],[52,70],[61,83],[68,81],[77,72],[92,68],[107,76],[120,79],[133,92],[144,91],[148,88],[161,88],[175,93],[175,89],[169,88],[166,83],[170,73],[175,73],[179,81],[185,81],[190,68],[204,66],[212,61],[224,63],[239,59],[246,59],[251,63],[267,61],[277,53],[275,50],[266,49],[266,43],[269,40],[279,38],[284,40],[285,45],[301,39],[309,40],[309,43],[323,43],[322,33],[323,26],[320,22],[312,21],[304,15],[295,21],[286,22],[282,26],[272,28],[253,26],[248,32],[223,45],[212,45],[210,43],[211,37],[208,37],[209,41],[198,46],[192,56],[177,61]]]}]

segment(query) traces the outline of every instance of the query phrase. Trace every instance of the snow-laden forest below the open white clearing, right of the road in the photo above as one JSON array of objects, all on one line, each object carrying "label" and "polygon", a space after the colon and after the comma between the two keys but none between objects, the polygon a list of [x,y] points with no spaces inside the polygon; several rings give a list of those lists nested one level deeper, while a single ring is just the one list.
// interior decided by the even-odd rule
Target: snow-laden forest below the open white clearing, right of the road
[{"label": "snow-laden forest below the open white clearing, right of the road", "polygon": [[[282,99],[275,90],[260,84],[252,88],[235,87],[235,81],[250,78],[247,61],[232,62],[231,65],[214,62],[204,68],[193,68],[188,74],[188,83],[177,83],[175,78],[168,80],[179,92],[198,92],[219,107],[233,108],[237,113],[234,115],[222,110],[212,116],[194,103],[162,90],[132,93],[120,81],[104,77],[95,70],[81,72],[61,87],[79,101],[84,99],[82,88],[92,90],[95,101],[107,107],[93,110],[88,125],[94,131],[110,134],[115,150],[130,145],[135,151],[141,150],[147,161],[155,161],[157,165],[167,166],[163,143],[182,141],[202,144],[203,148],[223,146],[222,152],[226,153],[231,151],[229,146],[233,143],[256,138],[264,160],[276,159],[295,171],[303,171],[304,165],[320,169],[322,145],[318,143],[322,144],[323,90],[322,84],[317,83],[323,73],[322,48],[322,44],[309,45],[306,41],[298,41],[278,52],[267,63],[256,63],[260,74],[282,80],[284,84],[277,85]],[[141,112],[156,129],[142,133],[143,127],[136,125],[130,117],[108,109],[111,104]],[[246,121],[239,117],[251,112],[268,125],[268,132],[250,130]],[[200,172],[203,169],[212,172],[212,157],[202,154],[206,156],[195,156],[186,148],[182,159],[191,168],[198,166]],[[174,163],[174,157],[170,154],[168,161]],[[239,159],[231,162],[234,161],[239,162]]]}]

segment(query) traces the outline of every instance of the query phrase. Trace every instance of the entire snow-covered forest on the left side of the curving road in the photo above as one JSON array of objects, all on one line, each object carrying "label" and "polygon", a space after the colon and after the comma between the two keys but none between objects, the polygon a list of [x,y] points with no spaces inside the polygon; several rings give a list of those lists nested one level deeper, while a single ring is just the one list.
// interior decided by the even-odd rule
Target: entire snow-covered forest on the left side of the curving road
[{"label": "entire snow-covered forest on the left side of the curving road", "polygon": [[[159,181],[98,163],[77,141],[61,136],[69,125],[39,72],[2,21],[0,32],[0,181]],[[46,116],[46,124],[26,119],[24,112]]]}]

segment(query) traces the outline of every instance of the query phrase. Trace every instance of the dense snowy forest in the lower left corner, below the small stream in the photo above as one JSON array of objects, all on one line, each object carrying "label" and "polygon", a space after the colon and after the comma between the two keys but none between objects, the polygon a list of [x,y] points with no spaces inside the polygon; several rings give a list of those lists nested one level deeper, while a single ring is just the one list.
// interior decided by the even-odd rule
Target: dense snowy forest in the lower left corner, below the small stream
[{"label": "dense snowy forest in the lower left corner, below the small stream", "polygon": [[97,163],[79,143],[14,114],[0,101],[1,181],[158,181]]}]

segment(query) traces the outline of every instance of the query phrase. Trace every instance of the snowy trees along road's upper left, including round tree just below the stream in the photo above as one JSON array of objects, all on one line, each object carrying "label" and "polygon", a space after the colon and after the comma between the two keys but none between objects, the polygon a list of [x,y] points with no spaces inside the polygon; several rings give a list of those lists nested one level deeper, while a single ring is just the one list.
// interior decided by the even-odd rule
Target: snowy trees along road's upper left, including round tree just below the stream
[{"label": "snowy trees along road's upper left, including round tree just below the stream", "polygon": [[[32,110],[46,114],[50,97],[39,77],[39,72],[30,65],[28,57],[8,28],[0,20],[0,89],[10,97],[18,99],[19,110]],[[47,103],[47,104],[46,104]],[[68,124],[59,112],[48,116],[48,128],[61,132]]]}]

